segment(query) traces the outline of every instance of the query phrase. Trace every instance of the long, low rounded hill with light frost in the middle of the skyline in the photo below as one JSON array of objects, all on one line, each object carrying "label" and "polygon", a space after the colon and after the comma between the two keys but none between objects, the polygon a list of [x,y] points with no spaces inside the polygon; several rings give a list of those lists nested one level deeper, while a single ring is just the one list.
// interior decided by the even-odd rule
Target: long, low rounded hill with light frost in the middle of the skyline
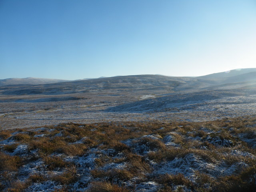
[{"label": "long, low rounded hill with light frost in the middle of the skyline", "polygon": [[90,80],[43,84],[34,86],[4,86],[2,94],[74,94],[86,92],[172,92],[181,84],[192,80],[183,77],[167,77],[158,75],[118,76]]}]

